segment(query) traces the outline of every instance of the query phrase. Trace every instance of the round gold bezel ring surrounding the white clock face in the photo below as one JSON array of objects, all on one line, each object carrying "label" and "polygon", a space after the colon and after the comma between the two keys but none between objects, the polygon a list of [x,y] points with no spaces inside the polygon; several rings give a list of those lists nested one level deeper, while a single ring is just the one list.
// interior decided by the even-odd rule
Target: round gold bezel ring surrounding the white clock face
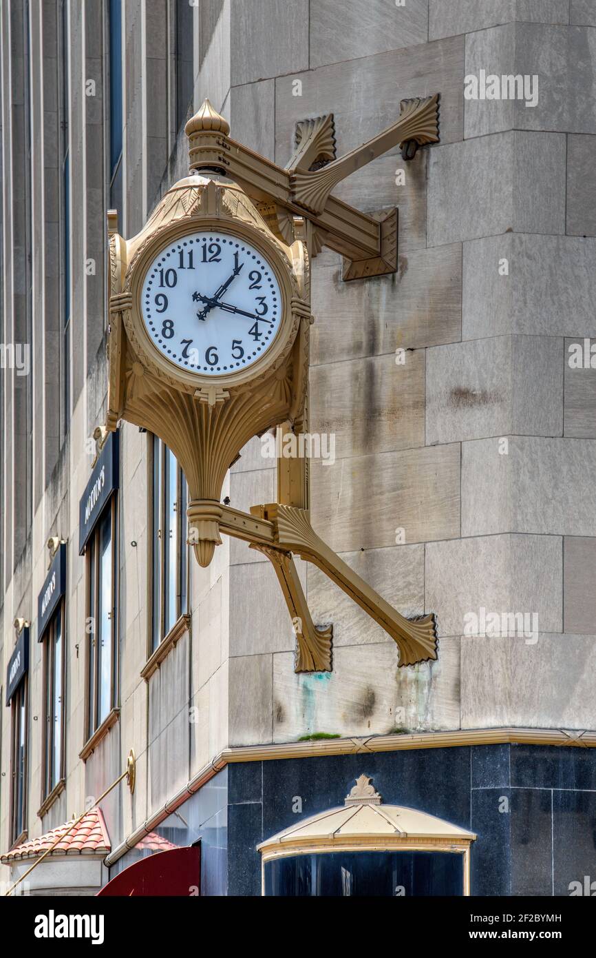
[{"label": "round gold bezel ring surrounding the white clock face", "polygon": [[[217,230],[219,233],[236,239],[250,242],[255,249],[269,263],[273,270],[281,294],[281,315],[276,338],[266,353],[259,356],[248,369],[237,370],[233,373],[209,376],[205,373],[191,373],[182,369],[175,362],[168,359],[151,339],[143,319],[142,294],[143,283],[151,263],[159,256],[163,249],[178,239],[183,239],[193,233]],[[284,262],[285,261],[285,262]],[[139,259],[133,263],[133,270],[129,278],[132,304],[128,316],[124,315],[124,326],[131,339],[137,346],[138,358],[143,366],[157,376],[166,376],[173,385],[184,385],[187,388],[201,389],[217,386],[229,389],[241,386],[260,378],[278,366],[292,348],[298,324],[292,314],[292,300],[298,295],[293,288],[292,266],[284,257],[283,252],[276,247],[266,236],[254,229],[250,224],[238,222],[228,217],[193,217],[183,223],[177,222],[167,226],[149,239],[140,252]]]}]

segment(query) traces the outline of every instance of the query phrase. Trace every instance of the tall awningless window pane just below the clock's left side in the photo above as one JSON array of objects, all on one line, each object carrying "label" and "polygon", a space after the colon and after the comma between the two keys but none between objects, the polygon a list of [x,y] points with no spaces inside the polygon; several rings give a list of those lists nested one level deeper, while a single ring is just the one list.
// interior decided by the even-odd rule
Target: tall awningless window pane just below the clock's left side
[{"label": "tall awningless window pane just below the clock's left side", "polygon": [[188,611],[187,481],[171,449],[150,436],[151,648]]}]

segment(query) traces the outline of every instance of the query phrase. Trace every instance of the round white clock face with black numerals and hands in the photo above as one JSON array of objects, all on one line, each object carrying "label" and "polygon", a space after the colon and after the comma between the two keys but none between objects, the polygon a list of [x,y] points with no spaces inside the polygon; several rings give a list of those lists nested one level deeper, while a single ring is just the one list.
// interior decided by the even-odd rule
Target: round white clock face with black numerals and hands
[{"label": "round white clock face with black numerals and hands", "polygon": [[282,314],[270,263],[245,239],[217,230],[166,246],[147,269],[141,305],[160,352],[201,376],[252,366],[273,345]]}]

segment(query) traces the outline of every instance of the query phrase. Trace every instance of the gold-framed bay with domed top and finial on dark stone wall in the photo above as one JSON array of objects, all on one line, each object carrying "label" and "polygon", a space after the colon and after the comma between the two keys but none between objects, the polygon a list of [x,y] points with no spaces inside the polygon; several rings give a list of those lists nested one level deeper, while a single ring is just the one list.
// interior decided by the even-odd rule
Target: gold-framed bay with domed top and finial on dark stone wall
[{"label": "gold-framed bay with domed top and finial on dark stone wall", "polygon": [[[351,878],[347,881],[346,876],[351,876],[355,869],[364,874],[364,859],[358,858],[360,853],[391,855],[390,861],[388,857],[383,859],[378,855],[374,859],[367,860],[374,861],[375,869],[379,864],[386,864],[393,878],[398,873],[401,874],[404,868],[407,868],[408,874],[411,872],[412,876],[423,875],[426,868],[427,877],[421,878],[419,885],[440,887],[440,884],[432,879],[432,872],[436,872],[437,867],[444,871],[445,859],[442,858],[439,861],[436,855],[451,853],[460,856],[463,866],[457,870],[457,874],[461,873],[462,884],[461,890],[455,894],[469,895],[470,846],[475,841],[475,837],[475,833],[436,818],[425,811],[408,809],[400,805],[382,804],[381,796],[375,791],[370,779],[361,775],[342,807],[321,811],[319,814],[302,819],[296,825],[273,835],[257,846],[262,857],[263,894],[328,894],[323,886],[325,883],[327,887],[333,886],[334,870],[331,868],[331,859],[323,859],[320,857],[322,855],[335,855],[336,871],[342,875],[342,887],[350,889],[347,892],[343,891],[343,894],[358,894],[358,891],[353,890],[354,881]],[[401,853],[410,853],[408,861],[394,857]],[[305,858],[299,857],[308,855],[313,856],[310,864],[306,864]],[[290,875],[289,864],[266,868],[281,859],[289,858],[294,859],[292,867],[295,875],[294,873]],[[455,864],[459,866],[459,862]],[[327,873],[327,878],[321,878],[321,868]],[[280,878],[282,872],[284,873],[283,881]],[[444,881],[453,883],[454,874],[456,873],[453,870],[451,878],[444,878]],[[283,885],[285,889],[295,887],[298,890],[274,891],[276,883],[278,889]],[[365,884],[366,887],[372,887],[374,883],[373,878],[370,880],[361,878],[361,886]],[[311,890],[305,891],[306,886]],[[405,886],[398,882],[393,887]],[[372,892],[365,892],[365,894],[372,894]],[[392,894],[395,892],[393,891]],[[411,890],[405,891],[404,894],[411,894]],[[438,892],[423,892],[423,894],[438,894]]]}]

